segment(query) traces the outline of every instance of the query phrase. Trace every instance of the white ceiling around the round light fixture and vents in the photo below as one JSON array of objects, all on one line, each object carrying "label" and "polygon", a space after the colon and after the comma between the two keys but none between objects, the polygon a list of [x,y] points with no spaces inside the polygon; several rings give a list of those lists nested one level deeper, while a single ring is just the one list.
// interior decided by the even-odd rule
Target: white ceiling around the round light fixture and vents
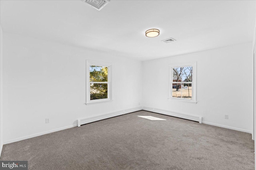
[{"label": "white ceiling around the round light fixture and vents", "polygon": [[[255,12],[245,0],[111,0],[100,11],[80,0],[0,0],[4,32],[142,61],[252,42]],[[146,37],[150,28],[160,35]]]}]

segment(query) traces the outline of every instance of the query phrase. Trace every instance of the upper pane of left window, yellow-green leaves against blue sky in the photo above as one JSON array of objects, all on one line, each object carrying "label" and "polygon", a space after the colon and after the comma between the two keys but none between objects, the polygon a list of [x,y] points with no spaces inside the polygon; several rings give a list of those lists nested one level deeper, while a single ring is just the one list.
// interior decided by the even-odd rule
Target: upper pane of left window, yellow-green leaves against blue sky
[{"label": "upper pane of left window, yellow-green leaves against blue sky", "polygon": [[90,65],[90,82],[107,82],[108,67]]}]

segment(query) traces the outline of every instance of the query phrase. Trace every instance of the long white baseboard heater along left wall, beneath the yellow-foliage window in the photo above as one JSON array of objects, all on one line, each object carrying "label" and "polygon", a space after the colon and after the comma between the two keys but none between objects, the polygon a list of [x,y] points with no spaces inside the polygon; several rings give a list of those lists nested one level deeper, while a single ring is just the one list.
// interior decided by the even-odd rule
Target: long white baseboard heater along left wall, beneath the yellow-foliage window
[{"label": "long white baseboard heater along left wall, beneath the yellow-foliage window", "polygon": [[120,115],[124,115],[127,113],[132,113],[134,111],[140,111],[142,110],[142,107],[134,107],[134,108],[130,108],[130,109],[125,109],[125,110],[120,110],[120,111],[114,111],[111,113],[107,113],[104,115],[99,115],[99,116],[94,116],[94,117],[88,117],[88,118],[81,118],[77,120],[77,126],[80,127],[80,125],[84,125],[87,123],[92,123],[94,121],[100,121],[103,119],[108,119],[111,117],[116,117],[116,116],[120,116]]}]

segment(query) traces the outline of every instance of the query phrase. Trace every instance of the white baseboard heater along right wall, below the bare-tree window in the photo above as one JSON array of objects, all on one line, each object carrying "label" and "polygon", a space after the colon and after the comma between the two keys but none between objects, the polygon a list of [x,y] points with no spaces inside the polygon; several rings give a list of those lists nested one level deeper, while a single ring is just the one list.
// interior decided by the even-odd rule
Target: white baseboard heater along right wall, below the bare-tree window
[{"label": "white baseboard heater along right wall, below the bare-tree window", "polygon": [[163,115],[173,116],[173,117],[179,117],[182,119],[188,119],[192,121],[198,121],[199,123],[202,123],[202,116],[199,115],[190,115],[187,113],[180,113],[176,111],[169,111],[169,110],[163,110],[163,109],[157,109],[152,107],[143,107],[142,110],[151,111],[154,113],[160,113]]}]

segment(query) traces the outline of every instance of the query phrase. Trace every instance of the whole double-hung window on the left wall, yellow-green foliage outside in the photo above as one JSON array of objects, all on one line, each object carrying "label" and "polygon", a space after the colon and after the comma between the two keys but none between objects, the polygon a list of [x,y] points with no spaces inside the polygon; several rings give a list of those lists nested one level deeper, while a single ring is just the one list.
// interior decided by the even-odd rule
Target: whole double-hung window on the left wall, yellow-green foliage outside
[{"label": "whole double-hung window on the left wall, yellow-green foliage outside", "polygon": [[86,104],[112,101],[111,64],[86,61]]}]

